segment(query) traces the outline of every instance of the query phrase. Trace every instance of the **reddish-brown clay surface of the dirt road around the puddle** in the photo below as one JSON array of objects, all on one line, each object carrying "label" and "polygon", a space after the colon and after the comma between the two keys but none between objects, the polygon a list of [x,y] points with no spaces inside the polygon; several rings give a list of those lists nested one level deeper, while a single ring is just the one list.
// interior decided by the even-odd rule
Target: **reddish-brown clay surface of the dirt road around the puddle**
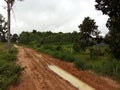
[{"label": "reddish-brown clay surface of the dirt road around the puddle", "polygon": [[[72,63],[60,61],[29,48],[18,47],[18,50],[17,63],[26,68],[19,83],[10,86],[9,90],[77,90],[51,71],[48,68],[51,64],[61,67],[96,90],[117,90],[119,87],[119,84],[111,79],[98,77],[88,71],[79,71]],[[36,54],[40,54],[40,57],[36,57]]]}]

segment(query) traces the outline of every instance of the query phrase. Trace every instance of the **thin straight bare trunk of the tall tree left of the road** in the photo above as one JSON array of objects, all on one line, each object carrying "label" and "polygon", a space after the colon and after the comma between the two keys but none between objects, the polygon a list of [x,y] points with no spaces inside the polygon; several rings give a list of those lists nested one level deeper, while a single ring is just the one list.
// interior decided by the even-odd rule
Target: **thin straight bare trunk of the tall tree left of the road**
[{"label": "thin straight bare trunk of the tall tree left of the road", "polygon": [[8,32],[7,32],[7,40],[8,40],[8,52],[11,51],[11,38],[10,38],[10,3],[7,3],[7,13],[8,13]]}]

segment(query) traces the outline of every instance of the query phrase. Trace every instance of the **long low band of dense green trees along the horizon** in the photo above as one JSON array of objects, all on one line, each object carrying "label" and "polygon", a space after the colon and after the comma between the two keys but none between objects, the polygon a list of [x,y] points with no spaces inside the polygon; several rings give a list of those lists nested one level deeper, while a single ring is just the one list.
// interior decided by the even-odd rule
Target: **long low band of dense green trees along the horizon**
[{"label": "long low band of dense green trees along the horizon", "polygon": [[19,37],[19,43],[21,44],[35,44],[40,46],[46,43],[74,43],[80,34],[77,32],[73,33],[53,33],[48,32],[22,32]]}]

